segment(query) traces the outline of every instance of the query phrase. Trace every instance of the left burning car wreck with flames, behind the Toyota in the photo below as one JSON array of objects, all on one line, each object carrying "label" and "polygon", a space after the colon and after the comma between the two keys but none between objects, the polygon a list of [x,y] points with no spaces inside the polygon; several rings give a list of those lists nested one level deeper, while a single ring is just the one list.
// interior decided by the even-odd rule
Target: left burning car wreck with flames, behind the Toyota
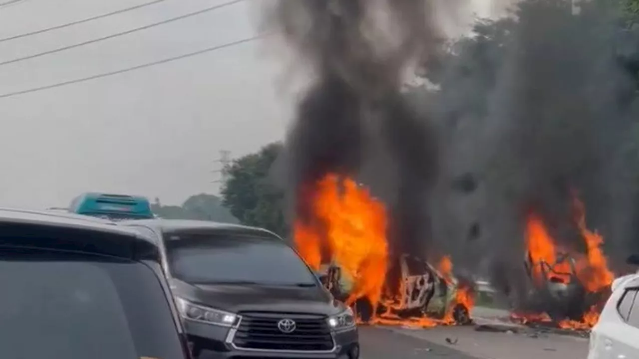
[{"label": "left burning car wreck with flames, behind the Toyota", "polygon": [[312,201],[316,221],[296,222],[296,248],[361,322],[471,323],[470,282],[454,277],[449,257],[434,266],[417,256],[394,254],[385,206],[366,187],[328,175],[317,183]]}]

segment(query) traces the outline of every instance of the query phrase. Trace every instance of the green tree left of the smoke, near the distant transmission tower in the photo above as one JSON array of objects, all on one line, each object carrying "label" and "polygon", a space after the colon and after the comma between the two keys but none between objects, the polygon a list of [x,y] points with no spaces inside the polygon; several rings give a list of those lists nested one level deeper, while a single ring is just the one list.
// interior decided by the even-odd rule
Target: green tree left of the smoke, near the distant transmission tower
[{"label": "green tree left of the smoke, near the distant transmission tower", "polygon": [[284,193],[270,180],[270,169],[281,153],[275,142],[233,161],[222,190],[223,203],[243,224],[263,227],[280,235],[287,233],[282,212]]}]

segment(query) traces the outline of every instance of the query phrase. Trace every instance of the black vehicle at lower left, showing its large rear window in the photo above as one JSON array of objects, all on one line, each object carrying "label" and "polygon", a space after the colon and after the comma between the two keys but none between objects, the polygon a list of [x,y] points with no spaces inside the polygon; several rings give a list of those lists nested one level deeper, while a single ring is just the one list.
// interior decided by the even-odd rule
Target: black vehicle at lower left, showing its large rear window
[{"label": "black vehicle at lower left, showing its large rear window", "polygon": [[0,209],[0,287],[0,358],[190,358],[157,245],[112,222]]}]

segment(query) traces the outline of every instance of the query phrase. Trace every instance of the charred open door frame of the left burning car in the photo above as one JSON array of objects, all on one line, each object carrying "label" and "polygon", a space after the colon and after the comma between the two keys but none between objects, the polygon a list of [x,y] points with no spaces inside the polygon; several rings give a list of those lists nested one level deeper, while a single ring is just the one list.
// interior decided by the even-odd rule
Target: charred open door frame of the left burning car
[{"label": "charred open door frame of the left burning car", "polygon": [[403,295],[401,309],[424,308],[433,297],[433,275],[422,261],[404,255],[400,259]]}]

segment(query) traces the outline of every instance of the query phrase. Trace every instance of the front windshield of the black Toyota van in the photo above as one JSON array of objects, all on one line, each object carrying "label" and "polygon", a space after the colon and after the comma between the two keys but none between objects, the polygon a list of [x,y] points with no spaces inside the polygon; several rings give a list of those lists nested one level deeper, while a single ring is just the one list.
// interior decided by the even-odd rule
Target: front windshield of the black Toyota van
[{"label": "front windshield of the black Toyota van", "polygon": [[171,273],[185,282],[318,285],[302,259],[279,238],[171,233],[165,239]]}]

